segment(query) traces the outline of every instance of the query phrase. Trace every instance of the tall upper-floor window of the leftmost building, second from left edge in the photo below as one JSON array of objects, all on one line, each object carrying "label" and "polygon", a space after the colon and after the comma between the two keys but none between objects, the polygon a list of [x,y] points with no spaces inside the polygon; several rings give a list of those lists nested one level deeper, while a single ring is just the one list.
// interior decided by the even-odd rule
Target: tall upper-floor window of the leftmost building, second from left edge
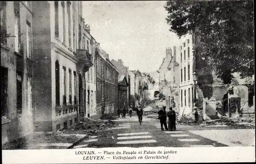
[{"label": "tall upper-floor window of the leftmost building, second from left edge", "polygon": [[20,52],[20,15],[19,15],[19,2],[14,2],[14,40],[15,52]]}]

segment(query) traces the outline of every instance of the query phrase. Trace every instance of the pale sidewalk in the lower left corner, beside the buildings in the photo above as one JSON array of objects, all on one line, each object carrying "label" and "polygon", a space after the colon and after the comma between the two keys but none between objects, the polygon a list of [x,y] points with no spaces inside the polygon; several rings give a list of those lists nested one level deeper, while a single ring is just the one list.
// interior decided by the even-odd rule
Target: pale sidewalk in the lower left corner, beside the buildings
[{"label": "pale sidewalk in the lower left corner, beside the buildings", "polygon": [[16,142],[2,145],[2,150],[68,149],[87,138],[87,136],[87,134],[66,134],[62,132],[33,132]]}]

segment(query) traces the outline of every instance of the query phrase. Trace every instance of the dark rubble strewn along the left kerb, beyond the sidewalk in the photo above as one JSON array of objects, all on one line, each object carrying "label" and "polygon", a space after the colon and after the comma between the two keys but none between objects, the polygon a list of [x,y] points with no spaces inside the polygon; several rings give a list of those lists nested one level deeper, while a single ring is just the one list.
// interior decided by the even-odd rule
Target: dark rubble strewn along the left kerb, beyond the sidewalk
[{"label": "dark rubble strewn along the left kerb, beyond the sidewalk", "polygon": [[95,135],[99,131],[102,131],[108,127],[114,127],[115,122],[112,120],[102,120],[96,119],[92,120],[90,118],[86,118],[85,122],[80,122],[74,127],[69,127],[65,130],[66,133],[75,131],[76,133],[87,133],[88,135]]}]

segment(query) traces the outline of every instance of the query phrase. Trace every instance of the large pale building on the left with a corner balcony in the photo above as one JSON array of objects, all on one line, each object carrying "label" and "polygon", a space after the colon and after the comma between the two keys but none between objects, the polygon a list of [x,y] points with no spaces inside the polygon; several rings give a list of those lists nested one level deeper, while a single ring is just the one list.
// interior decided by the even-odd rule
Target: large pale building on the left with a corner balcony
[{"label": "large pale building on the left with a corner balcony", "polygon": [[55,131],[87,117],[93,45],[84,38],[81,2],[32,2],[32,10],[34,130]]}]

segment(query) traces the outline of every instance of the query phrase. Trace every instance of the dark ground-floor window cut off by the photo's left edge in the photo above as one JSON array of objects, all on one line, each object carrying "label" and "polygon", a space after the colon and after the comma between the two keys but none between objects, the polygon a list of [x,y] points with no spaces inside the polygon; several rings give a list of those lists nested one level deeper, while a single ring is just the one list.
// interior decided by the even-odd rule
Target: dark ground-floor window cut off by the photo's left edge
[{"label": "dark ground-floor window cut off by the photo's left edge", "polygon": [[1,109],[2,117],[8,117],[8,68],[1,67]]}]

